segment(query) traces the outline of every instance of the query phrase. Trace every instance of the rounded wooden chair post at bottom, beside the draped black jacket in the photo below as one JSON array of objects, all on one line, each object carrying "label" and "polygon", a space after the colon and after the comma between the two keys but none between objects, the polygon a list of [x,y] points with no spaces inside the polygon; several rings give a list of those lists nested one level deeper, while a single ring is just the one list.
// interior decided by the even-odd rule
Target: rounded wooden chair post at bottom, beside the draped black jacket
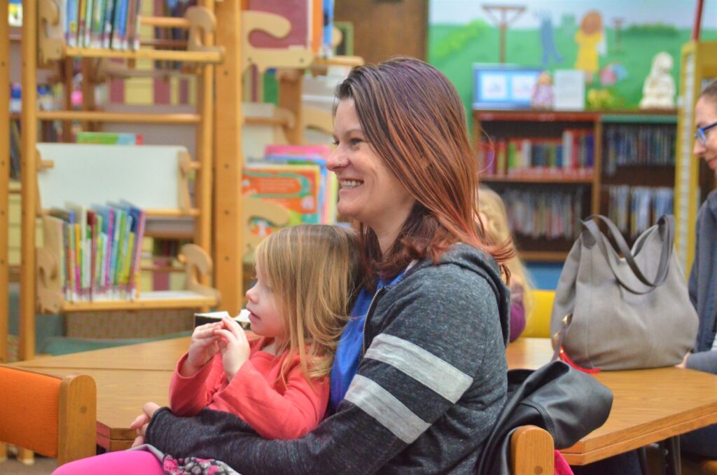
[{"label": "rounded wooden chair post at bottom, beside the draped black jacket", "polygon": [[511,474],[552,474],[555,469],[553,438],[536,425],[523,425],[511,436]]}]

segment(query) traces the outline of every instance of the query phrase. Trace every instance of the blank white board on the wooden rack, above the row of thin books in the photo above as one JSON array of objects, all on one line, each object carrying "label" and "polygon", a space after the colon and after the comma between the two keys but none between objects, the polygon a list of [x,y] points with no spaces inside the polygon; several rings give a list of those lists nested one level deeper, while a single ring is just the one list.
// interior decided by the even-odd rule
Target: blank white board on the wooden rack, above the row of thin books
[{"label": "blank white board on the wooden rack, above the row of thin books", "polygon": [[179,159],[188,152],[182,146],[37,144],[37,151],[54,163],[37,174],[44,209],[120,199],[143,209],[183,208]]}]

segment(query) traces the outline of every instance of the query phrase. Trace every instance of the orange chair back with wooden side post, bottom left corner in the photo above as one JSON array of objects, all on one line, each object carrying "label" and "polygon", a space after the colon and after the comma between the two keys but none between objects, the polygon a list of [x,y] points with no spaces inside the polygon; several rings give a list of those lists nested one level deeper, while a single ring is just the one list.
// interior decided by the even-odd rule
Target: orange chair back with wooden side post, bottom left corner
[{"label": "orange chair back with wooden side post, bottom left corner", "polygon": [[0,365],[0,420],[0,441],[57,458],[58,465],[95,455],[95,380]]}]

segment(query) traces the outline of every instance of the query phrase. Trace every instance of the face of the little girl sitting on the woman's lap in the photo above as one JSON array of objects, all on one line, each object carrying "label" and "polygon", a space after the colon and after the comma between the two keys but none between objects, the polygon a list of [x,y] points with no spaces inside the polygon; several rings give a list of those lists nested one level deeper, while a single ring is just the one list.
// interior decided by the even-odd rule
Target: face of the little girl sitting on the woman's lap
[{"label": "face of the little girl sitting on the woman's lap", "polygon": [[262,337],[284,339],[286,329],[276,294],[262,278],[257,266],[257,283],[247,291],[247,310],[252,331]]}]

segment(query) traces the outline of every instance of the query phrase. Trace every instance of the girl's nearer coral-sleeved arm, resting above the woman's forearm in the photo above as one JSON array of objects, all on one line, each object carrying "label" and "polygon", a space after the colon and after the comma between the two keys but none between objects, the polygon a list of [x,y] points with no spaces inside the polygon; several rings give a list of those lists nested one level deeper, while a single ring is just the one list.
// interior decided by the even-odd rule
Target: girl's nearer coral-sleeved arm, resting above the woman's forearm
[{"label": "girl's nearer coral-sleeved arm, resting above the woman's forearm", "polygon": [[251,360],[247,361],[229,385],[214,395],[213,408],[239,415],[262,437],[300,438],[313,431],[326,414],[328,378],[314,380],[312,387],[296,357],[286,382],[286,390],[280,394]]}]

